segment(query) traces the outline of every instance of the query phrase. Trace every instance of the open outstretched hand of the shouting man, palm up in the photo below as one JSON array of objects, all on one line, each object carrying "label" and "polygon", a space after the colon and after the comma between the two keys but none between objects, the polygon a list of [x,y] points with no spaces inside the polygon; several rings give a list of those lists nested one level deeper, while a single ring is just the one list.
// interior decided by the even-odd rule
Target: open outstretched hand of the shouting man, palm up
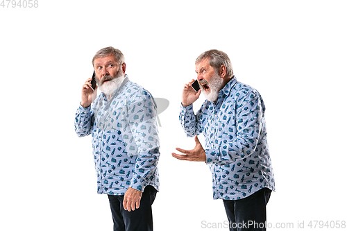
[{"label": "open outstretched hand of the shouting man, palm up", "polygon": [[198,141],[198,135],[195,135],[194,139],[196,144],[194,149],[184,150],[181,148],[176,148],[177,151],[180,151],[181,153],[185,153],[185,155],[172,153],[172,156],[178,160],[206,162],[206,153],[205,153],[205,150],[203,149],[203,146]]}]

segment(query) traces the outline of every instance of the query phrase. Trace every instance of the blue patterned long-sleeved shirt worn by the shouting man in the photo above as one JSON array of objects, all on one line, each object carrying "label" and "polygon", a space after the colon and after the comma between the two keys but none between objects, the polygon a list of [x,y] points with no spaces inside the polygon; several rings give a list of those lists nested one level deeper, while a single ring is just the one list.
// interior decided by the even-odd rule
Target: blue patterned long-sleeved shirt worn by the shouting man
[{"label": "blue patterned long-sleeved shirt worn by the shouting man", "polygon": [[219,91],[217,105],[205,101],[196,115],[192,105],[181,105],[187,137],[205,136],[214,199],[238,200],[264,187],[275,190],[264,112],[259,92],[235,76]]}]

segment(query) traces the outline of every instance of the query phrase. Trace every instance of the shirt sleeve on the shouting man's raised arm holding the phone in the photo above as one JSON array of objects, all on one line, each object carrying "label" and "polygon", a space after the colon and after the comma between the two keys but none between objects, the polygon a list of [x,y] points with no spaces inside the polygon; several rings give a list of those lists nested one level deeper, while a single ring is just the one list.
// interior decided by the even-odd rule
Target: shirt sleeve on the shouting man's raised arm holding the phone
[{"label": "shirt sleeve on the shouting man's raised arm holding the phone", "polygon": [[187,137],[194,137],[194,135],[199,135],[203,132],[203,126],[201,119],[203,118],[202,110],[198,110],[196,114],[194,114],[193,104],[183,107],[180,105],[180,125],[185,131],[185,135]]}]

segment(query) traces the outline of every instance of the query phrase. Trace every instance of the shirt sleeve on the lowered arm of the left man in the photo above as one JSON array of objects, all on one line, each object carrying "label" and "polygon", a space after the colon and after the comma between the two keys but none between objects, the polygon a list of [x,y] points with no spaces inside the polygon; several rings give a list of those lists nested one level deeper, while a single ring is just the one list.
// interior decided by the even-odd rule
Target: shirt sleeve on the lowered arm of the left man
[{"label": "shirt sleeve on the lowered arm of the left man", "polygon": [[128,104],[129,126],[138,148],[130,187],[139,191],[144,191],[157,171],[160,152],[156,115],[155,101],[146,90]]}]

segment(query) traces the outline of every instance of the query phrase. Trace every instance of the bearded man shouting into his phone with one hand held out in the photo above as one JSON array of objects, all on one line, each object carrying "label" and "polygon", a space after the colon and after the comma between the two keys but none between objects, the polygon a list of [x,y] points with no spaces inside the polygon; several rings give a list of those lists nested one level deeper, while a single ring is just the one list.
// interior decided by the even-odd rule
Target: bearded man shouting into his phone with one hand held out
[{"label": "bearded man shouting into his phone with one hand held out", "polygon": [[[180,123],[188,137],[195,137],[196,146],[176,148],[183,155],[172,155],[209,165],[213,198],[223,200],[230,230],[265,230],[266,204],[275,182],[262,96],[237,81],[223,51],[206,51],[195,65],[201,89],[192,88],[194,80],[183,88]],[[207,100],[194,114],[193,103],[201,92]],[[205,148],[198,140],[201,133]]]}]

